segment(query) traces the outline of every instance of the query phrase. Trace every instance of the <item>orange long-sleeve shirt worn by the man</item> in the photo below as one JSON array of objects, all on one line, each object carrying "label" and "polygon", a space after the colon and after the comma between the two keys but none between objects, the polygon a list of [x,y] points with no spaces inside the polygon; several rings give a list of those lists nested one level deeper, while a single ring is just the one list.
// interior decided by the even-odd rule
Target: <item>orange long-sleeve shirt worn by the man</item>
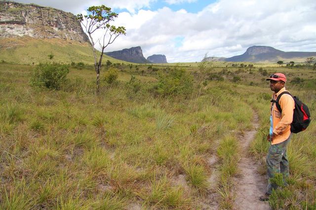
[{"label": "orange long-sleeve shirt worn by the man", "polygon": [[[276,94],[273,94],[273,99],[285,91],[282,88]],[[291,123],[293,121],[293,110],[295,108],[293,98],[288,94],[283,94],[279,100],[279,105],[282,113],[276,108],[275,103],[271,103],[271,114],[273,122],[273,139],[271,144],[277,144],[287,140],[291,134]]]}]

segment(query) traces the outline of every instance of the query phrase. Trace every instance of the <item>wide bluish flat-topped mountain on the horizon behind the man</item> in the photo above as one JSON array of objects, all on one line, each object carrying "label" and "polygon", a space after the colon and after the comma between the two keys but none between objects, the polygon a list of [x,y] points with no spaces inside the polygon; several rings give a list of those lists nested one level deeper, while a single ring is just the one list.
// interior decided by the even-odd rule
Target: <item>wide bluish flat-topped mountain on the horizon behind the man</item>
[{"label": "wide bluish flat-topped mountain on the horizon behind the man", "polygon": [[249,47],[242,55],[225,59],[230,62],[276,63],[277,61],[298,61],[315,57],[316,52],[284,52],[269,46]]}]

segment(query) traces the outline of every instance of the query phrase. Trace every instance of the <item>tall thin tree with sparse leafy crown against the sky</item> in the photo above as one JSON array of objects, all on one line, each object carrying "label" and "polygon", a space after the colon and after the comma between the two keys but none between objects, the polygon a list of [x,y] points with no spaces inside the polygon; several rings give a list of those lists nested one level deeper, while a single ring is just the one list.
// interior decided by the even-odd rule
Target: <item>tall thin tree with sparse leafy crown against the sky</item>
[{"label": "tall thin tree with sparse leafy crown against the sky", "polygon": [[[94,56],[94,69],[97,74],[97,96],[100,94],[100,70],[102,67],[102,59],[104,49],[114,42],[114,40],[119,35],[125,35],[125,28],[122,26],[116,27],[110,25],[111,21],[114,21],[118,14],[111,11],[110,7],[105,5],[101,6],[90,6],[88,9],[88,15],[78,14],[77,19],[80,21],[81,25],[83,26],[85,32],[88,34],[91,47]],[[92,37],[92,34],[96,31],[102,30],[103,35],[100,37],[97,42],[99,42],[101,48],[101,55],[100,57],[97,56],[95,46],[95,41]]]}]

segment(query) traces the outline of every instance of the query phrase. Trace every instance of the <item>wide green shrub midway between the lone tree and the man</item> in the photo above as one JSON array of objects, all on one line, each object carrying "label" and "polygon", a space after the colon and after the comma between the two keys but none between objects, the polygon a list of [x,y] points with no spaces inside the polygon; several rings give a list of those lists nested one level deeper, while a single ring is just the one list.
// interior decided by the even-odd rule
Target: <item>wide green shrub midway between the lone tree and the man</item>
[{"label": "wide green shrub midway between the lone tree and the man", "polygon": [[185,70],[174,68],[169,72],[159,71],[155,87],[159,95],[188,96],[193,92],[193,77]]}]

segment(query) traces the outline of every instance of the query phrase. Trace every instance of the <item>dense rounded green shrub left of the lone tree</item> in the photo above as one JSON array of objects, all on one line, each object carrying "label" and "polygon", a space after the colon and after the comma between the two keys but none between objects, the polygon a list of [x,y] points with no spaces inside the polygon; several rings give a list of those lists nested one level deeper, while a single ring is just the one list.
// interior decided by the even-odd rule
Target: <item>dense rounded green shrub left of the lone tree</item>
[{"label": "dense rounded green shrub left of the lone tree", "polygon": [[36,66],[30,79],[30,84],[58,90],[66,81],[69,68],[65,64],[45,63]]}]

